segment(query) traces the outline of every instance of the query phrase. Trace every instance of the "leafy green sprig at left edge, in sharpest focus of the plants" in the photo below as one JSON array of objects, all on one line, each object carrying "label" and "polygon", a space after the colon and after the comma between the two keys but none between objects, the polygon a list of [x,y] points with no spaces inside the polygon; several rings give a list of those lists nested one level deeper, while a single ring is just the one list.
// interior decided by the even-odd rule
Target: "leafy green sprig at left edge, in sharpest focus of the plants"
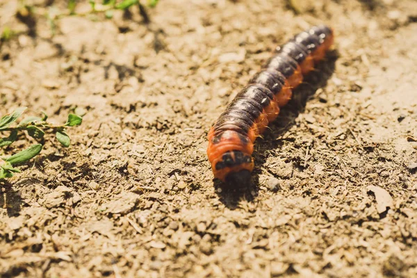
[{"label": "leafy green sprig at left edge, in sharpest focus of the plants", "polygon": [[[45,133],[55,133],[56,139],[64,147],[70,146],[70,136],[67,135],[66,128],[70,126],[79,126],[83,118],[79,115],[69,114],[67,122],[61,125],[53,125],[47,122],[48,116],[42,113],[42,117],[25,117],[16,124],[17,119],[24,113],[26,107],[17,108],[13,113],[5,115],[0,119],[0,133],[8,132],[8,137],[0,138],[0,147],[6,147],[13,144],[19,138],[19,133],[25,132],[28,136],[40,140]],[[24,163],[37,156],[42,150],[41,144],[35,144],[28,149],[24,149],[13,156],[0,157],[0,179],[13,177],[13,173],[19,172],[15,165]]]}]

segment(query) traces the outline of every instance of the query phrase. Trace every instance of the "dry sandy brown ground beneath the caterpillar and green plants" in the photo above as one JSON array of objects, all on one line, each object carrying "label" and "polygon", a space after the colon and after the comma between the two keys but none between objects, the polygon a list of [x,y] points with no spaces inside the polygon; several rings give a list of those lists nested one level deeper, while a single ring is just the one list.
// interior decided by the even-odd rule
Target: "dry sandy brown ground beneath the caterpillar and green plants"
[{"label": "dry sandy brown ground beneath the caterpillar and green plants", "polygon": [[[63,17],[54,35],[16,2],[0,1],[19,32],[0,48],[0,114],[87,114],[72,147],[48,138],[1,183],[1,277],[416,277],[417,1],[163,0],[150,24]],[[336,50],[256,142],[253,186],[223,188],[208,129],[321,23]]]}]

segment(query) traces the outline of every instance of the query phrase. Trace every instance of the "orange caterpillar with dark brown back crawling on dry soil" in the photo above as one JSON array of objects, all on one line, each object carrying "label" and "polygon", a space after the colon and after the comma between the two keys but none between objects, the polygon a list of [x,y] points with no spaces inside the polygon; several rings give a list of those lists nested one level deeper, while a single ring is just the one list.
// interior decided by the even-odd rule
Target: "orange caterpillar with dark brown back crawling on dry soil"
[{"label": "orange caterpillar with dark brown back crawling on dry soil", "polygon": [[245,183],[254,169],[254,141],[293,95],[334,42],[332,28],[314,26],[275,49],[261,71],[231,101],[208,131],[208,161],[214,177]]}]

